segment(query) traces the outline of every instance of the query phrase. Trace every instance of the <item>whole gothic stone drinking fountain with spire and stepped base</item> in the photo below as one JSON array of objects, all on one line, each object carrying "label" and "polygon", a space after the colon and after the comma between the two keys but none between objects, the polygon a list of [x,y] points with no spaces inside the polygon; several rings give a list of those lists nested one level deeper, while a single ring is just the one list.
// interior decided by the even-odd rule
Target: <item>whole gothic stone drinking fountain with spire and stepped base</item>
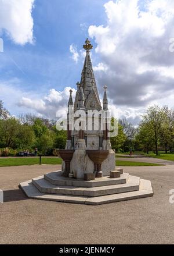
[{"label": "whole gothic stone drinking fountain with spire and stepped base", "polygon": [[[20,183],[29,198],[77,204],[99,205],[108,202],[151,197],[153,190],[149,180],[124,173],[115,168],[115,152],[111,148],[107,127],[107,87],[104,87],[103,108],[100,103],[96,80],[90,59],[93,46],[87,39],[84,49],[86,57],[82,69],[81,82],[77,83],[77,93],[73,102],[70,90],[68,101],[67,143],[65,150],[59,150],[63,159],[61,170],[47,173],[27,182]],[[87,120],[85,129],[79,115],[88,119],[89,111],[104,113],[99,115],[99,123],[93,126],[93,119]],[[73,114],[74,122],[71,121]],[[93,128],[90,129],[92,124]]]}]

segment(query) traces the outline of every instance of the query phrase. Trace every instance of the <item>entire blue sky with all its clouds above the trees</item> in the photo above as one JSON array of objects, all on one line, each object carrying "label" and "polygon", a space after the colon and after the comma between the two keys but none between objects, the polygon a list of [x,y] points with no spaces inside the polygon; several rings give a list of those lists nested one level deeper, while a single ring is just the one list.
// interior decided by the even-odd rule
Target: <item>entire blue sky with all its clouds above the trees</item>
[{"label": "entire blue sky with all its clouds above the trees", "polygon": [[0,0],[0,6],[0,99],[11,115],[66,115],[86,37],[100,98],[106,84],[113,113],[137,125],[148,106],[173,107],[173,0]]}]

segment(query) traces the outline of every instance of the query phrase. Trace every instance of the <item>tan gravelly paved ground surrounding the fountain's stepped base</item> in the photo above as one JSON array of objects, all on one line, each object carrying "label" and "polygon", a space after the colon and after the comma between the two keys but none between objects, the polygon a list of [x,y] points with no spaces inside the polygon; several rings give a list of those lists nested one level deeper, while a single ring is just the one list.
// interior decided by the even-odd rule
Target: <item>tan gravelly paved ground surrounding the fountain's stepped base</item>
[{"label": "tan gravelly paved ground surrounding the fountain's stepped base", "polygon": [[173,244],[174,168],[168,166],[124,167],[131,175],[149,179],[154,197],[114,204],[64,204],[30,200],[18,184],[59,169],[55,165],[0,168],[1,244]]}]

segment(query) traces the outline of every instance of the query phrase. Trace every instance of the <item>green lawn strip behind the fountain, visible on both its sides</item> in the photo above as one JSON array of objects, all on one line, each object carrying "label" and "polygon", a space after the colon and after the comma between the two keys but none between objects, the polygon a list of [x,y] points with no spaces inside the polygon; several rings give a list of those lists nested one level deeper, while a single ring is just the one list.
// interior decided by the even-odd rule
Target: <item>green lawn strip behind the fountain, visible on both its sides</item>
[{"label": "green lawn strip behind the fountain, visible on both its sides", "polygon": [[[0,158],[0,166],[38,165],[39,158]],[[42,158],[42,164],[61,165],[60,158]],[[117,166],[158,166],[155,163],[116,161]]]}]

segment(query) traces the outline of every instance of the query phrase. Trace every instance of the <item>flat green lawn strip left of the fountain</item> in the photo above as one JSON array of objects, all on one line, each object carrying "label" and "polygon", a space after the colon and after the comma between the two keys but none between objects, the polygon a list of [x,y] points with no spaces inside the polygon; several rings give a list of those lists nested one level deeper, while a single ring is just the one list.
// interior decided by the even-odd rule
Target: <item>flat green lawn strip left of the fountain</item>
[{"label": "flat green lawn strip left of the fountain", "polygon": [[[0,166],[38,165],[39,158],[0,158]],[[61,165],[60,158],[42,158],[42,164]]]}]

